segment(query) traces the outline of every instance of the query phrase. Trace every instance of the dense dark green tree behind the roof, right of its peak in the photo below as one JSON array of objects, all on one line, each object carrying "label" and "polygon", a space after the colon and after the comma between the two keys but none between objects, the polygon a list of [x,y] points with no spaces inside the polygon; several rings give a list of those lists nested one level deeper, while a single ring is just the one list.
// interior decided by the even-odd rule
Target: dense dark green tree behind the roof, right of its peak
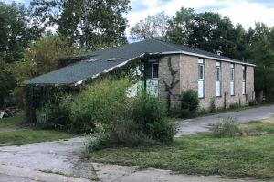
[{"label": "dense dark green tree behind the roof, right of its peak", "polygon": [[222,55],[245,59],[248,48],[246,31],[236,27],[230,19],[213,12],[195,13],[182,7],[169,21],[168,41],[200,48],[209,52],[221,51]]}]

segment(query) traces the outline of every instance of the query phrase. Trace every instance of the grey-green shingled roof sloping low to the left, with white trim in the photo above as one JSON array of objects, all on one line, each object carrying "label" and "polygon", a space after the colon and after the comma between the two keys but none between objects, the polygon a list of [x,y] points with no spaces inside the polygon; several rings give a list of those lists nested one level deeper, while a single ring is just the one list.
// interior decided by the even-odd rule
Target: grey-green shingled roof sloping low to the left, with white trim
[{"label": "grey-green shingled roof sloping low to the left, with white trim", "polygon": [[115,48],[106,48],[90,53],[90,57],[64,68],[48,72],[31,80],[26,80],[23,85],[78,85],[84,80],[95,78],[101,73],[121,67],[133,59],[145,54],[186,54],[199,58],[216,59],[255,66],[247,62],[216,55],[204,50],[189,48],[183,45],[166,43],[159,40],[144,40],[132,44],[122,45]]}]

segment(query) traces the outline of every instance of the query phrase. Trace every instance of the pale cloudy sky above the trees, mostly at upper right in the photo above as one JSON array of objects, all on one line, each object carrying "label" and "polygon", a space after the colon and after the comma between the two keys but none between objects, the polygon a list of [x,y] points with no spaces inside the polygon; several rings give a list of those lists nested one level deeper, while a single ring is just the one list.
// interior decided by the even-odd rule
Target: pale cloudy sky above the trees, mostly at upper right
[{"label": "pale cloudy sky above the trees, mostly at upper right", "polygon": [[[5,2],[10,3],[11,0]],[[16,2],[29,5],[30,0]],[[218,12],[245,28],[254,27],[255,21],[262,21],[269,27],[274,26],[274,0],[131,0],[130,5],[132,10],[126,15],[130,26],[161,11],[174,16],[182,6],[195,8],[195,12]]]}]

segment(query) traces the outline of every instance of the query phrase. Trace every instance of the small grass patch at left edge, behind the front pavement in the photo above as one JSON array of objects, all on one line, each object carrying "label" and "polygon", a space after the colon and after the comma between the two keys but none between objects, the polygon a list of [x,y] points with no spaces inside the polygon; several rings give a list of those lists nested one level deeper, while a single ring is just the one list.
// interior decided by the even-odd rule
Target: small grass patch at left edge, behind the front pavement
[{"label": "small grass patch at left edge, behind the front pavement", "polygon": [[18,112],[16,117],[0,120],[0,145],[22,145],[76,136],[60,131],[22,127],[23,118],[23,113]]}]

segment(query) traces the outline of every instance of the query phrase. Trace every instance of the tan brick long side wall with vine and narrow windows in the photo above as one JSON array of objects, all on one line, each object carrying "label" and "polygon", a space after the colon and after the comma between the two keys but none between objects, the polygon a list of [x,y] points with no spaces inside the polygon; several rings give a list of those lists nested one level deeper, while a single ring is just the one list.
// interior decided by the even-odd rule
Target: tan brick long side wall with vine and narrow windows
[{"label": "tan brick long side wall with vine and narrow windows", "polygon": [[[163,80],[171,82],[172,77],[168,70],[167,60],[169,56],[163,57],[159,61],[159,95],[166,99],[167,92]],[[172,66],[179,72],[176,74],[176,80],[180,83],[173,89],[172,103],[178,102],[178,96],[182,91],[194,89],[197,91],[198,85],[198,64],[197,57],[187,55],[172,55]],[[216,97],[216,60],[205,59],[205,98],[200,99],[200,108],[209,109],[211,102],[215,102],[217,108],[224,108],[225,100],[227,108],[230,104],[241,103],[247,104],[252,100],[254,95],[254,68],[247,67],[247,95],[242,94],[242,65],[235,64],[235,95],[230,95],[230,63],[221,61],[221,97]]]}]

